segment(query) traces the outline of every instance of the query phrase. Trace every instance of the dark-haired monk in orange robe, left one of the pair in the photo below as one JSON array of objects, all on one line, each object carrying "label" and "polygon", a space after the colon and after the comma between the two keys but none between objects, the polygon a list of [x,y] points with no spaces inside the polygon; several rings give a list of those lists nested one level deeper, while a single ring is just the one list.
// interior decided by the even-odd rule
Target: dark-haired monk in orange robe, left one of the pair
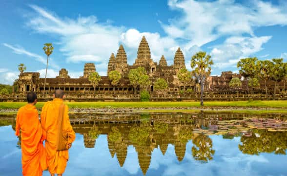
[{"label": "dark-haired monk in orange robe, left one of the pair", "polygon": [[[21,107],[17,113],[16,135],[21,135],[22,174],[23,176],[42,176],[47,168],[43,140],[46,132],[42,130],[36,93],[27,94],[28,104]],[[21,130],[21,132],[20,132]]]}]

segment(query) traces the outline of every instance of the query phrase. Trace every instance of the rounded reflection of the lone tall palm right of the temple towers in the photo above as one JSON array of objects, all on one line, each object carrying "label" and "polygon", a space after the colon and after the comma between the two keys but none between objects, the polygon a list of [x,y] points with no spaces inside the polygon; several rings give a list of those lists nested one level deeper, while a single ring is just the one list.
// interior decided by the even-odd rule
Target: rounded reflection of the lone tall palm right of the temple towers
[{"label": "rounded reflection of the lone tall palm right of the temple towers", "polygon": [[196,146],[193,146],[191,149],[192,156],[195,160],[207,162],[213,159],[212,155],[215,151],[212,150],[212,140],[208,136],[200,133],[192,140],[192,143]]}]

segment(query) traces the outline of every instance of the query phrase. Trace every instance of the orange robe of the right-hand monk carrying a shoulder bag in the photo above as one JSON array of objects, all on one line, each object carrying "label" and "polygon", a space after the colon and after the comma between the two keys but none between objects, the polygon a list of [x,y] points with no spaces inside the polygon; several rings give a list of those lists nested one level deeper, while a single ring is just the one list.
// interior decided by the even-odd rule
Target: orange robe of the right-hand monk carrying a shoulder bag
[{"label": "orange robe of the right-hand monk carrying a shoulder bag", "polygon": [[[45,142],[46,157],[48,170],[51,174],[62,174],[65,171],[67,161],[69,159],[68,150],[57,151],[56,142],[58,127],[57,121],[59,119],[59,109],[63,103],[62,99],[55,98],[52,102],[46,102],[41,111],[41,124],[42,128],[47,132],[47,139]],[[65,105],[64,117],[62,119],[62,130],[68,132],[68,142],[74,142],[76,134],[70,124],[69,108]]]}]

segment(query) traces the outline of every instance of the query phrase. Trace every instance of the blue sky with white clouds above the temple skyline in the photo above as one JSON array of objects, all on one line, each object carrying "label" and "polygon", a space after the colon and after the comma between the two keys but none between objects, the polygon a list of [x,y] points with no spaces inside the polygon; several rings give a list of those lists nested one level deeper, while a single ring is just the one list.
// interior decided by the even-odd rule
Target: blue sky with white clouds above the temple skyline
[{"label": "blue sky with white clouds above the temple skyline", "polygon": [[11,84],[17,65],[44,76],[44,43],[53,43],[48,77],[61,68],[77,78],[93,62],[106,75],[112,52],[123,44],[132,65],[144,35],[152,59],[164,54],[173,63],[177,47],[190,69],[200,50],[212,56],[212,75],[237,71],[240,58],[287,59],[286,0],[2,0],[0,11],[0,83]]}]

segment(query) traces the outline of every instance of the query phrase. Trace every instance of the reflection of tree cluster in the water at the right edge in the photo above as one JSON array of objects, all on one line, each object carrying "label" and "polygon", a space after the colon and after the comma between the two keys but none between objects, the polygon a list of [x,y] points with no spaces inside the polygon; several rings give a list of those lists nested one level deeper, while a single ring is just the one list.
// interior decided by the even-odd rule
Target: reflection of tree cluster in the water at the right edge
[{"label": "reflection of tree cluster in the water at the right edge", "polygon": [[287,132],[254,130],[252,136],[242,136],[238,148],[244,154],[272,153],[286,154]]}]

